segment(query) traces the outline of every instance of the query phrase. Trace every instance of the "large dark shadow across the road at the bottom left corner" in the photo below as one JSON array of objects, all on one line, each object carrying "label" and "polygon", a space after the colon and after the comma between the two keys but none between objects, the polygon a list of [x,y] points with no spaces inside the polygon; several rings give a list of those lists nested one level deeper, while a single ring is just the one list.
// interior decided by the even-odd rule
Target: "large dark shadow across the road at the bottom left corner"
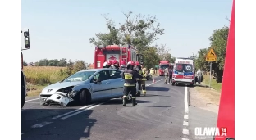
[{"label": "large dark shadow across the road at the bottom left corner", "polygon": [[[62,117],[53,119],[57,115],[63,115],[66,112],[75,111],[75,109],[59,108],[59,109],[25,109],[21,111],[21,135],[23,140],[34,139],[55,139],[70,140],[89,138],[90,130],[97,122],[96,119],[89,118],[93,110],[87,110],[79,114],[79,120],[68,119],[68,121],[60,121]],[[74,112],[75,113],[75,112]],[[66,116],[66,115],[65,115]],[[75,118],[75,116],[72,116]],[[48,122],[43,127],[39,125]],[[36,126],[37,125],[37,126]],[[54,127],[53,127],[54,126]],[[34,130],[36,130],[36,133]]]}]

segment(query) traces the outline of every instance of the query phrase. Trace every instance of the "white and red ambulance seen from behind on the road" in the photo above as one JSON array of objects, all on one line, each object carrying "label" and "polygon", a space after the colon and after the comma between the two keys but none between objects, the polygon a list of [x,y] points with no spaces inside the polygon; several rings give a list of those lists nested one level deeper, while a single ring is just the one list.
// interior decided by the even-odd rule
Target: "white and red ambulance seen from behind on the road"
[{"label": "white and red ambulance seen from behind on the road", "polygon": [[190,58],[177,57],[172,70],[171,85],[193,85],[195,79],[194,61]]}]

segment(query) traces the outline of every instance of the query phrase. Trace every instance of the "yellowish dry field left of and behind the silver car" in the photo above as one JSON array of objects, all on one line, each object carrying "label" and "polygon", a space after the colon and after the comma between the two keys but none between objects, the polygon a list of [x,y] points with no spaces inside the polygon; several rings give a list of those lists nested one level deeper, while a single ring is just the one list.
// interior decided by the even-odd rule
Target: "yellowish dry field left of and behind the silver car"
[{"label": "yellowish dry field left of and behind the silver car", "polygon": [[66,67],[55,66],[25,66],[23,69],[26,82],[42,85],[62,80],[66,77],[63,73],[65,70]]}]

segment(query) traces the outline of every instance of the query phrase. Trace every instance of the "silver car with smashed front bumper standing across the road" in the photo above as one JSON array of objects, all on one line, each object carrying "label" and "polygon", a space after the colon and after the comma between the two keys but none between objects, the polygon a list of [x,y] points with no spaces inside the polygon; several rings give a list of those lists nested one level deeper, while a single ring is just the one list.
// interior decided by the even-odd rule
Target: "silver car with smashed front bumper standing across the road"
[{"label": "silver car with smashed front bumper standing across the road", "polygon": [[61,82],[43,88],[40,102],[41,105],[66,106],[69,102],[85,105],[97,100],[122,97],[123,85],[121,70],[82,70]]}]

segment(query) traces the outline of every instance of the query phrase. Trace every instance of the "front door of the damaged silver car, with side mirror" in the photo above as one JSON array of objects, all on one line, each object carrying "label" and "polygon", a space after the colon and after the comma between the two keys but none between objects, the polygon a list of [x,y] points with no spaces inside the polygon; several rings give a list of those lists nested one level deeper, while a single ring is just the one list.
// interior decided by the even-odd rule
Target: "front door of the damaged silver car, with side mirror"
[{"label": "front door of the damaged silver car, with side mirror", "polygon": [[[95,84],[95,79],[101,79],[100,84]],[[93,100],[107,99],[111,97],[111,85],[107,70],[99,71],[98,74],[94,75],[94,78],[91,80],[91,88]]]}]

